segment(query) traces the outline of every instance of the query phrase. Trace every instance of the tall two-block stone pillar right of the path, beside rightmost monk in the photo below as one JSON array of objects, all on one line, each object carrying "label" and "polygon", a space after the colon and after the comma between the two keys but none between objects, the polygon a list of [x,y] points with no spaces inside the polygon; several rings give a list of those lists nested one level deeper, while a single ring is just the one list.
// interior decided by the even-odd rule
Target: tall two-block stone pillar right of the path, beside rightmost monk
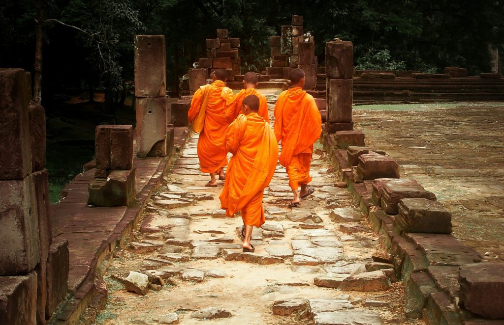
[{"label": "tall two-block stone pillar right of the path, beside rightmost monk", "polygon": [[336,39],[326,43],[326,73],[327,122],[325,132],[353,130],[352,42]]}]

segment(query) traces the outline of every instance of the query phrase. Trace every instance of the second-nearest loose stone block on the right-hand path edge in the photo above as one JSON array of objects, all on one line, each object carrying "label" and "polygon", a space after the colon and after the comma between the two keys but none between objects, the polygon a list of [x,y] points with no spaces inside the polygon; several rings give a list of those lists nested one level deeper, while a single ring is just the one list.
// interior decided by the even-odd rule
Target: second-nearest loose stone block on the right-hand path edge
[{"label": "second-nearest loose stone block on the right-hand path edge", "polygon": [[401,199],[394,219],[400,233],[451,233],[452,214],[442,204],[424,198]]}]

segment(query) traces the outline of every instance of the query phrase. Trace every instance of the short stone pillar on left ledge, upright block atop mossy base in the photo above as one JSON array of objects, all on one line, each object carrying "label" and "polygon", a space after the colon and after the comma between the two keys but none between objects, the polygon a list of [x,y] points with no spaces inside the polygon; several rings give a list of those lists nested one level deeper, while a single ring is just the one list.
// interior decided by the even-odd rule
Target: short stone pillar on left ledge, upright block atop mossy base
[{"label": "short stone pillar on left ledge, upright block atop mossy base", "polygon": [[[164,123],[166,128],[166,120]],[[166,145],[166,133],[164,141],[159,143]],[[166,152],[166,147],[159,150]],[[95,152],[95,179],[89,184],[88,204],[101,207],[130,205],[136,196],[133,126],[97,126]]]}]

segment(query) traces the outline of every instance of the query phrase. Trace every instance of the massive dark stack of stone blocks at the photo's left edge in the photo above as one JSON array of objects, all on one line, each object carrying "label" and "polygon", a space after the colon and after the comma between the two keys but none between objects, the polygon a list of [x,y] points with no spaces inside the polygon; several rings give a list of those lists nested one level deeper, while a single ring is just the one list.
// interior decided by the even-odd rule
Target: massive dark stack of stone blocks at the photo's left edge
[{"label": "massive dark stack of stone blocks at the photo's left edge", "polygon": [[[45,111],[31,101],[30,85],[23,69],[0,69],[0,317],[9,324],[46,319],[52,234]],[[58,271],[57,281],[66,286],[68,273]]]}]

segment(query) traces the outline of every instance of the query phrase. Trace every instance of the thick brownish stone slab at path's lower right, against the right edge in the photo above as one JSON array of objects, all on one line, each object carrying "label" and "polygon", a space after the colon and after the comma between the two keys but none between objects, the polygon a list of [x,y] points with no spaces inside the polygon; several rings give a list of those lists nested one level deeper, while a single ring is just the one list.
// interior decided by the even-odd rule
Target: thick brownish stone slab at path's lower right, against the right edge
[{"label": "thick brownish stone slab at path's lower right, against the right edge", "polygon": [[385,291],[390,289],[390,283],[387,275],[380,270],[350,275],[342,281],[339,288],[364,292]]}]

